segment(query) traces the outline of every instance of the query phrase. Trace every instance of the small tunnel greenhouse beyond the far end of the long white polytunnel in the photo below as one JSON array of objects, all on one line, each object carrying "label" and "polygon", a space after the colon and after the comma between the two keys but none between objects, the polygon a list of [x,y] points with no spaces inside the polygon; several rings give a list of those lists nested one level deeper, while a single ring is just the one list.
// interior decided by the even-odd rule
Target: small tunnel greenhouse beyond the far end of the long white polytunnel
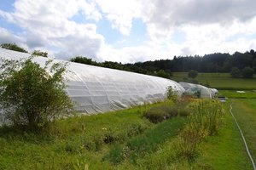
[{"label": "small tunnel greenhouse beyond the far end of the long white polytunnel", "polygon": [[178,82],[184,89],[184,95],[191,95],[197,98],[209,98],[212,99],[218,94],[216,88],[207,88],[200,84],[193,84],[189,82]]}]

